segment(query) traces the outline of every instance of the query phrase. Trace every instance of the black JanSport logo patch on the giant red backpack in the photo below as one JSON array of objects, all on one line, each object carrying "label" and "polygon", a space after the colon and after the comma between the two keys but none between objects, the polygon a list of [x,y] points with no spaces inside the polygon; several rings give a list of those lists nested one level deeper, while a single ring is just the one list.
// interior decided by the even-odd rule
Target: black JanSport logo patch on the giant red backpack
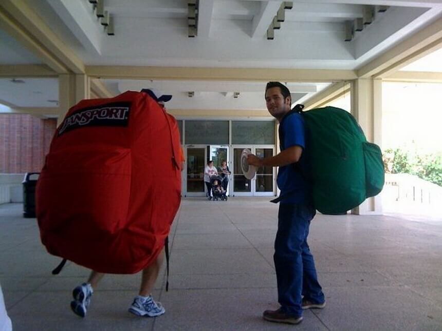
[{"label": "black JanSport logo patch on the giant red backpack", "polygon": [[64,119],[58,135],[85,126],[127,126],[130,102],[119,102],[77,110]]}]

